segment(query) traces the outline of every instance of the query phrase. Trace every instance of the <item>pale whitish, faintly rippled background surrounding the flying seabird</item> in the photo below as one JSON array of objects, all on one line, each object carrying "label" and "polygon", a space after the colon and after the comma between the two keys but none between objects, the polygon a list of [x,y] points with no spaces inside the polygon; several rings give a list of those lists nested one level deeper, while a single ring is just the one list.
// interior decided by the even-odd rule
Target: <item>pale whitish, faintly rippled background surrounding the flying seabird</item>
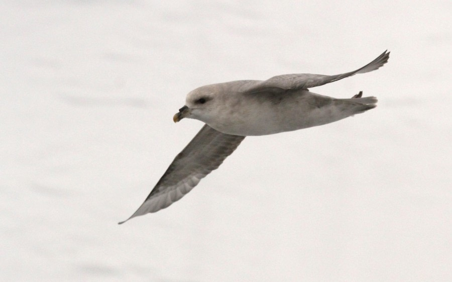
[{"label": "pale whitish, faintly rippled background surrounding the flying seabird", "polygon": [[[2,280],[452,280],[449,1],[38,3],[0,9]],[[375,110],[247,138],[180,202],[117,225],[201,128],[172,121],[191,89],[385,49],[314,90]]]}]

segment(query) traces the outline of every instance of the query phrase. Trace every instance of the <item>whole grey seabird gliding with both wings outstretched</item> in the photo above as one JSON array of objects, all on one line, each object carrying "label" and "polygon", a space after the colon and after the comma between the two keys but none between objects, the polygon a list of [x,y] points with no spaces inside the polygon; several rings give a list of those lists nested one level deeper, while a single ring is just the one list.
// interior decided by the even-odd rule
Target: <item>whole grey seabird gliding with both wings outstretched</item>
[{"label": "whole grey seabird gliding with both wings outstretched", "polygon": [[375,108],[377,99],[362,97],[362,91],[350,99],[336,99],[308,88],[376,70],[388,59],[389,52],[385,51],[367,65],[342,74],[284,74],[267,80],[210,84],[189,92],[185,106],[173,120],[197,119],[205,125],[174,158],[129,219],[155,213],[178,201],[218,168],[246,136],[319,126]]}]

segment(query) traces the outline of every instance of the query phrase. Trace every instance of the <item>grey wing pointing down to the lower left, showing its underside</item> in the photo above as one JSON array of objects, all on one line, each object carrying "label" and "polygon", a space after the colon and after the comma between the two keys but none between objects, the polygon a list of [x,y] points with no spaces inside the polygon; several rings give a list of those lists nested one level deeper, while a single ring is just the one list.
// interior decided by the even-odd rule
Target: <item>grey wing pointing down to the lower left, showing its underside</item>
[{"label": "grey wing pointing down to the lower left, showing its underside", "polygon": [[151,194],[129,219],[155,213],[178,201],[190,192],[201,178],[218,168],[244,138],[245,136],[221,133],[204,125],[174,158]]}]

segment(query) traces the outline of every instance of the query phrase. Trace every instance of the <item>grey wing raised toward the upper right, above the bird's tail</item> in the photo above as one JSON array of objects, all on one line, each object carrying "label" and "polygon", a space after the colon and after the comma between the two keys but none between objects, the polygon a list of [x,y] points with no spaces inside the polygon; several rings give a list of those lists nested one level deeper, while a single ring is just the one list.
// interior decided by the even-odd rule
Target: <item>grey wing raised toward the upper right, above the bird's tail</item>
[{"label": "grey wing raised toward the upper right, above the bird's tail", "polygon": [[307,89],[310,87],[320,86],[329,82],[343,79],[348,76],[355,75],[357,73],[365,73],[376,70],[388,62],[389,53],[390,52],[387,52],[386,50],[372,62],[351,72],[336,75],[322,75],[310,73],[283,74],[273,76],[270,79],[255,83],[250,88],[246,89],[246,91],[253,93],[266,91],[269,88]]}]

